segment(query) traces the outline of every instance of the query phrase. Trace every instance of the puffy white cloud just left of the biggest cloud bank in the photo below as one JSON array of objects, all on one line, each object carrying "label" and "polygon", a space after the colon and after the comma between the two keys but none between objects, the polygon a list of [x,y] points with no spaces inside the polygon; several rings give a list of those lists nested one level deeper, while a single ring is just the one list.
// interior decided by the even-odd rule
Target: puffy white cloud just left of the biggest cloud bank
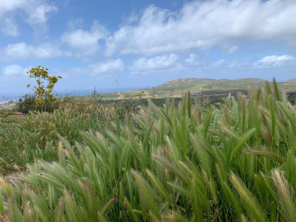
[{"label": "puffy white cloud just left of the biggest cloud bank", "polygon": [[108,30],[95,20],[90,31],[82,29],[67,31],[62,34],[61,41],[75,50],[77,57],[81,57],[95,54],[99,50],[98,41],[105,39],[107,34]]}]

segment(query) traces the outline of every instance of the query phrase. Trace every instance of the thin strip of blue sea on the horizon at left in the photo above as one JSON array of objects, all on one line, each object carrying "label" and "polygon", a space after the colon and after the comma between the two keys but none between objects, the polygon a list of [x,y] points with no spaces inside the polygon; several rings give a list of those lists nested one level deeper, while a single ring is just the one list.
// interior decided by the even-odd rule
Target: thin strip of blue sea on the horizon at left
[{"label": "thin strip of blue sea on the horizon at left", "polygon": [[[123,92],[123,91],[129,91],[129,90],[136,90],[136,89],[141,89],[141,87],[137,88],[118,88],[117,92]],[[72,96],[86,96],[89,94],[92,94],[94,89],[64,89],[64,90],[57,90],[56,94],[58,96],[66,96],[66,95],[72,95]],[[100,93],[112,93],[114,92],[114,89],[96,89],[96,92],[98,94]],[[13,93],[1,93],[0,92],[0,102],[10,100],[10,99],[15,99],[18,100],[20,99],[23,95],[28,94],[29,92],[13,92]]]}]

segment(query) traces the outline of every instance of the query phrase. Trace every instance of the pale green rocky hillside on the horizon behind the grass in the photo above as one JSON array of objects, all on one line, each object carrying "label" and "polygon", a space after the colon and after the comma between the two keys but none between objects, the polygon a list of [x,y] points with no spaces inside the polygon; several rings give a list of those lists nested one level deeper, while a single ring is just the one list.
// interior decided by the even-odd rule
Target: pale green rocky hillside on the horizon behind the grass
[{"label": "pale green rocky hillside on the horizon behind the grass", "polygon": [[[191,91],[192,93],[202,92],[207,95],[227,95],[229,92],[236,94],[236,91],[245,91],[250,86],[251,79],[256,86],[264,84],[260,78],[243,78],[243,79],[210,79],[210,78],[183,78],[165,82],[159,86],[147,89],[139,89],[133,91],[117,92],[103,94],[104,100],[112,99],[129,99],[135,97],[141,98],[164,98],[167,96],[182,97],[183,91]],[[287,92],[296,91],[296,78],[278,83],[280,90]],[[183,90],[182,90],[183,88]]]}]

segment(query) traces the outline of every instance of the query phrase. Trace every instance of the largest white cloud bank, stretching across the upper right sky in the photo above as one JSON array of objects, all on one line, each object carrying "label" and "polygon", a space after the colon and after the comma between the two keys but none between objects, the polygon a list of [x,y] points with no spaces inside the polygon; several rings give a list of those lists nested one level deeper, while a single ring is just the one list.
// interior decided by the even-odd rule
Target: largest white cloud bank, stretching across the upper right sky
[{"label": "largest white cloud bank, stretching across the upper right sky", "polygon": [[171,53],[232,40],[295,44],[295,11],[295,0],[192,1],[178,12],[151,5],[135,24],[121,26],[107,39],[105,53]]}]

